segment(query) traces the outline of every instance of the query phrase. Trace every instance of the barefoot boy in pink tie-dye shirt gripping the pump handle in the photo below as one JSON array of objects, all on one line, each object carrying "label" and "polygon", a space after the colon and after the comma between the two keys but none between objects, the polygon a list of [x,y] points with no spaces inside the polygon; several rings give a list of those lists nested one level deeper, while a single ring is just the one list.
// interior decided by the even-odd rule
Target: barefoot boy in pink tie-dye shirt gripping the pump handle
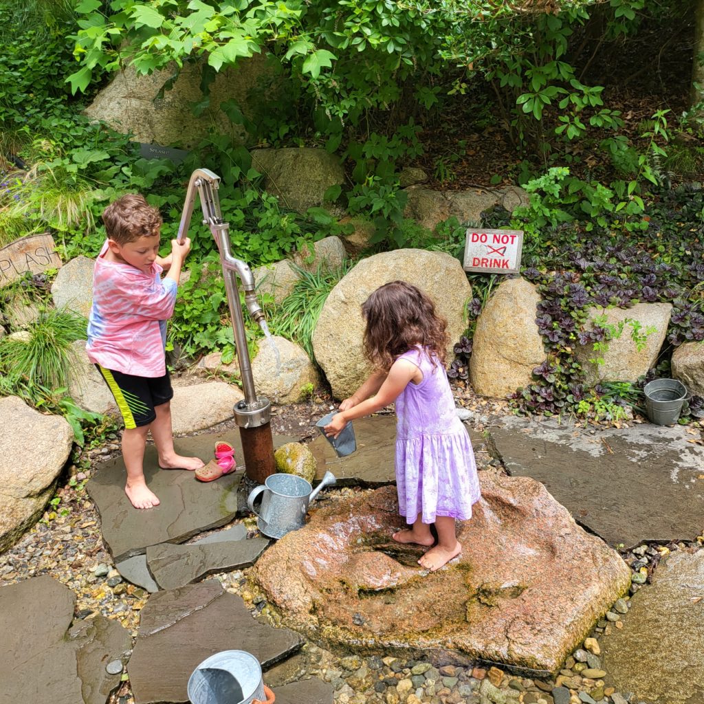
[{"label": "barefoot boy in pink tie-dye shirt gripping the pump handle", "polygon": [[[151,430],[162,469],[197,470],[196,457],[174,451],[170,399],[173,389],[165,364],[166,321],[191,241],[171,243],[158,256],[161,215],[143,196],[127,195],[103,212],[107,240],[96,259],[93,306],[88,322],[88,358],[115,396],[125,432],[122,457],[127,468],[125,494],[134,508],[159,500],[146,486],[144,448]],[[164,279],[159,275],[168,270]]]}]

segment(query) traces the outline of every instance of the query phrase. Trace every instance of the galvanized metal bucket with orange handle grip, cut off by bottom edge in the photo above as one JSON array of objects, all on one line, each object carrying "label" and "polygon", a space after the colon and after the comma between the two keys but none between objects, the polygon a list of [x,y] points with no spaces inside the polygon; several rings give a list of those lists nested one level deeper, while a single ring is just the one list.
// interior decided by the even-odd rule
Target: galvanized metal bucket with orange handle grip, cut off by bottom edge
[{"label": "galvanized metal bucket with orange handle grip, cut off by bottom edge", "polygon": [[191,674],[187,691],[192,704],[253,704],[268,699],[259,661],[246,650],[210,655]]}]

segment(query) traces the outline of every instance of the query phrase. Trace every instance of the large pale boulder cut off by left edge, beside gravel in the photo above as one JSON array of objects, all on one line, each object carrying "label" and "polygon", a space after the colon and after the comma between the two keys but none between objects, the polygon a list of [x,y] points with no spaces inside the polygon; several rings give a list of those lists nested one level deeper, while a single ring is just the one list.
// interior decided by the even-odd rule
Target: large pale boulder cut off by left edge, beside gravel
[{"label": "large pale boulder cut off by left edge, beside gravel", "polygon": [[43,415],[16,396],[0,398],[0,551],[37,521],[54,494],[73,446],[59,415]]}]

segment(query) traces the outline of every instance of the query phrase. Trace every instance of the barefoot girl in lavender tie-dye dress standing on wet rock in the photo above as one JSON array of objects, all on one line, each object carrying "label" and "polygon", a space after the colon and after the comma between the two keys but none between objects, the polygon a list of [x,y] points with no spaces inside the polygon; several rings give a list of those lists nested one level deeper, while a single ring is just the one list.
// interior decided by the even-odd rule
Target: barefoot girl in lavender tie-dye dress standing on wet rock
[{"label": "barefoot girl in lavender tie-dye dress standing on wet rock", "polygon": [[396,401],[398,508],[413,525],[394,540],[430,547],[434,523],[438,543],[418,564],[435,572],[462,551],[455,519],[470,518],[480,497],[472,444],[443,366],[447,324],[420,289],[403,281],[374,291],[362,314],[365,357],[377,371],[340,404],[325,434],[337,437],[349,421]]}]

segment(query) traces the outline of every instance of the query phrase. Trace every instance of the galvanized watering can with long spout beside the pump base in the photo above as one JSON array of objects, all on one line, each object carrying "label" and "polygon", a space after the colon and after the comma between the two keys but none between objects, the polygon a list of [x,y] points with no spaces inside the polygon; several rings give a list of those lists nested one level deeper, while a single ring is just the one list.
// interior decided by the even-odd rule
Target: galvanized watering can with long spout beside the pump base
[{"label": "galvanized watering can with long spout beside the pump base", "polygon": [[[247,505],[256,513],[257,527],[270,538],[283,538],[288,532],[298,530],[306,524],[306,513],[310,502],[318,496],[320,489],[337,482],[332,472],[325,472],[322,481],[313,489],[306,479],[295,474],[271,474],[263,486],[252,489]],[[259,510],[254,502],[262,495]]]}]

